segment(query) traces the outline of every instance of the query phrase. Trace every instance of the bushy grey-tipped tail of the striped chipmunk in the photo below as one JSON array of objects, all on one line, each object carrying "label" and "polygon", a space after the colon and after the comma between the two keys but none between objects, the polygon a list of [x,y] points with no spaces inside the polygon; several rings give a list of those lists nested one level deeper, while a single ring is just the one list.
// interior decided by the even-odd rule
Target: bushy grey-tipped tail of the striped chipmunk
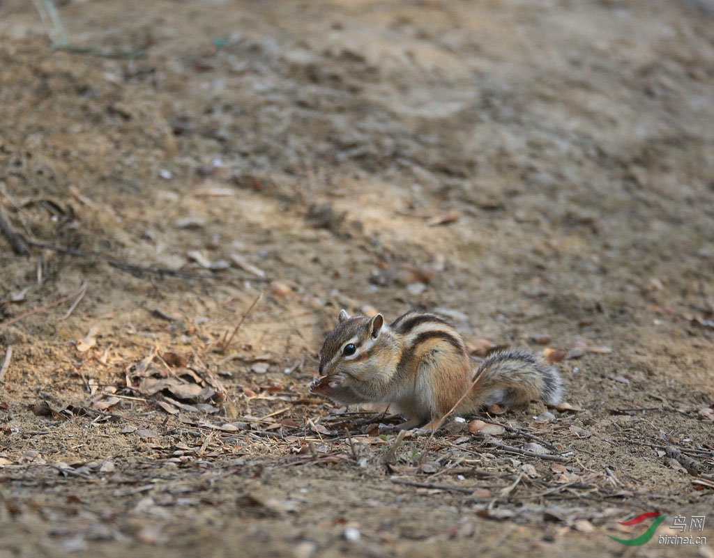
[{"label": "bushy grey-tipped tail of the striped chipmunk", "polygon": [[539,399],[560,402],[563,382],[555,367],[539,362],[526,350],[503,350],[488,355],[476,370],[478,381],[471,392],[471,406],[522,405]]}]

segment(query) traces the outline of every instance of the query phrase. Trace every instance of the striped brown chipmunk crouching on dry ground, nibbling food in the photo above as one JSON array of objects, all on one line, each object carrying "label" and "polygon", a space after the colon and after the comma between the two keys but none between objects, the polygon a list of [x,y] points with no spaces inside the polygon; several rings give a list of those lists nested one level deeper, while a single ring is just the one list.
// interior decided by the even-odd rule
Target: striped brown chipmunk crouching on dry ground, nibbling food
[{"label": "striped brown chipmunk crouching on dry ground, nibbling food", "polygon": [[408,419],[401,429],[427,422],[426,428],[433,429],[454,405],[456,412],[468,413],[497,402],[518,405],[540,399],[555,404],[563,392],[558,370],[540,364],[526,350],[495,352],[474,372],[453,326],[415,310],[389,325],[381,314],[351,317],[341,310],[337,327],[320,349],[319,372],[311,392],[346,405],[396,405]]}]

